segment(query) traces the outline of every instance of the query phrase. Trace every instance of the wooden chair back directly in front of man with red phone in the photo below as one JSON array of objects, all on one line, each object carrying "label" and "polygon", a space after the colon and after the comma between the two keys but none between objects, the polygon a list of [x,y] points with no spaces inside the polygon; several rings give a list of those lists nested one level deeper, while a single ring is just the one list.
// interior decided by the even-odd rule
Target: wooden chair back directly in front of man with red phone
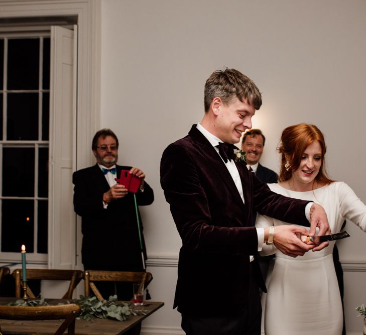
[{"label": "wooden chair back directly in front of man with red phone", "polygon": [[152,280],[153,275],[150,272],[85,270],[85,296],[90,295],[91,288],[98,300],[104,300],[93,283],[94,281],[120,281],[130,283],[140,282],[143,283],[144,288],[146,288]]}]

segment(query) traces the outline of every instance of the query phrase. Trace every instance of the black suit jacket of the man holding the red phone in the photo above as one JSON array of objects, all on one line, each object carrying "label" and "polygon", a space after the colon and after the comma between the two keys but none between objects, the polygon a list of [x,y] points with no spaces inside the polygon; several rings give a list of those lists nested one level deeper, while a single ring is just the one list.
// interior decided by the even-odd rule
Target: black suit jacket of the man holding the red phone
[{"label": "black suit jacket of the man holding the red phone", "polygon": [[[116,166],[116,176],[131,166]],[[142,257],[137,227],[135,200],[129,192],[124,198],[113,200],[103,208],[103,193],[109,190],[99,166],[74,172],[74,209],[81,216],[82,263],[93,264],[93,269],[127,271],[141,266]],[[136,193],[138,205],[149,205],[154,193],[145,181],[144,192]],[[140,212],[140,224],[142,227]],[[145,242],[143,249],[146,259]]]}]

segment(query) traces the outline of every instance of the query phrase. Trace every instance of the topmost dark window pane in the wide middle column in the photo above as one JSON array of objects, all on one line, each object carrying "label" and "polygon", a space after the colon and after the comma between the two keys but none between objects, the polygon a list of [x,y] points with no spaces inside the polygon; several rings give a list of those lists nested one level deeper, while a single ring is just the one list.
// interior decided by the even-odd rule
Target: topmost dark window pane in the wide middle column
[{"label": "topmost dark window pane in the wide middle column", "polygon": [[39,38],[8,41],[8,89],[38,89]]}]

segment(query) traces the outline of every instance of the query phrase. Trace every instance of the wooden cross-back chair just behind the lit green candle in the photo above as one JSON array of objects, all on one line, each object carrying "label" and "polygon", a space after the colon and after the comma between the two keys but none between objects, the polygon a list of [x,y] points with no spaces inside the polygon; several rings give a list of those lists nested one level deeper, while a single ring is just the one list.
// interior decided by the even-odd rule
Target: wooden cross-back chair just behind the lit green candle
[{"label": "wooden cross-back chair just behind the lit green candle", "polygon": [[[21,297],[23,274],[21,269],[13,271],[15,278],[15,295]],[[70,285],[67,292],[62,296],[62,299],[72,299],[72,293],[83,278],[83,273],[80,270],[56,270],[56,269],[27,269],[27,279],[37,280],[69,280]],[[32,290],[28,287],[27,294],[31,298],[35,298]],[[50,297],[51,298],[51,297]],[[56,298],[56,297],[52,297]]]}]

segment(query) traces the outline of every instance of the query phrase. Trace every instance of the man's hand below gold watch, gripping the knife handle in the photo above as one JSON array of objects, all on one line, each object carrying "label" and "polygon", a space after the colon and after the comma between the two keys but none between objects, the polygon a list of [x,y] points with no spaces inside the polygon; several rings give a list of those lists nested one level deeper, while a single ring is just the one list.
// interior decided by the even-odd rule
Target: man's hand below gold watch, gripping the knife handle
[{"label": "man's hand below gold watch, gripping the knife handle", "polygon": [[[273,242],[282,253],[291,256],[303,256],[307,251],[314,248],[314,245],[306,244],[298,238],[298,234],[308,236],[305,228],[298,226],[276,226]],[[265,241],[267,241],[268,228],[265,229]]]}]

